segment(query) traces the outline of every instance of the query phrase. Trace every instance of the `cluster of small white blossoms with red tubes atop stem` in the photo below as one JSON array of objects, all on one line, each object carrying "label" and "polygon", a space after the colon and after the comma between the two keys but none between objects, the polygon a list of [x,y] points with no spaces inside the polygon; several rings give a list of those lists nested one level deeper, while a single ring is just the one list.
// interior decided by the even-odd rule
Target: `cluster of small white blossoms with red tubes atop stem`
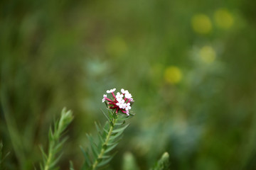
[{"label": "cluster of small white blossoms with red tubes atop stem", "polygon": [[129,110],[132,108],[131,105],[134,102],[132,94],[129,91],[121,89],[121,93],[117,92],[114,95],[116,89],[107,90],[107,94],[112,94],[113,99],[107,98],[107,94],[103,95],[102,102],[106,102],[108,108],[114,109],[115,113],[124,113],[129,115]]}]

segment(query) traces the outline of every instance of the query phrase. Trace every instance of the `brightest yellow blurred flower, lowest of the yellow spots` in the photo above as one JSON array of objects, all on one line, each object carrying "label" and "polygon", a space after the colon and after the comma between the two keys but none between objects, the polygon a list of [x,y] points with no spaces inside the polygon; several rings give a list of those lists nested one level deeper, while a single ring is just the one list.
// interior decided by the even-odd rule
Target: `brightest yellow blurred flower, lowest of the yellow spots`
[{"label": "brightest yellow blurred flower, lowest of the yellow spots", "polygon": [[181,70],[175,66],[167,67],[164,72],[164,79],[170,84],[178,84],[182,79]]}]

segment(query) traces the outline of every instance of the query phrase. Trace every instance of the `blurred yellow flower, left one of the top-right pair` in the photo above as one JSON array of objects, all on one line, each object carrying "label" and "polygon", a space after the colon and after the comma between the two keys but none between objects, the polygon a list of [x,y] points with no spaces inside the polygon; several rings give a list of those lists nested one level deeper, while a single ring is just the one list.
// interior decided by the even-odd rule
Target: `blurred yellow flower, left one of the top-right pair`
[{"label": "blurred yellow flower, left one of the top-right pair", "polygon": [[208,34],[212,30],[212,23],[210,18],[205,14],[196,14],[193,16],[192,28],[196,33]]}]

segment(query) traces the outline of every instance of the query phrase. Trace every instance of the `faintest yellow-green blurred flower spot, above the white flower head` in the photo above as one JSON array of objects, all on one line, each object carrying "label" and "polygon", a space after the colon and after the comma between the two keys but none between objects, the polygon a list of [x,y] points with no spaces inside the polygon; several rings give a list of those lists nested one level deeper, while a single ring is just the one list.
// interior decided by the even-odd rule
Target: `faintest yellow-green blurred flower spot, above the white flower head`
[{"label": "faintest yellow-green blurred flower spot, above the white flower head", "polygon": [[119,57],[127,52],[127,44],[122,38],[115,37],[107,42],[106,50],[109,55]]}]

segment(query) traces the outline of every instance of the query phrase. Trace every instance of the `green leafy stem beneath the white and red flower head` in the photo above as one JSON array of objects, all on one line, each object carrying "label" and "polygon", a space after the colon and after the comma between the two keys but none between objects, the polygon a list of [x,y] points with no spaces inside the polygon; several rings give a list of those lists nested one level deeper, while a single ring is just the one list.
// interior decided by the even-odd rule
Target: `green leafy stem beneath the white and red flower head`
[{"label": "green leafy stem beneath the white and red flower head", "polygon": [[85,157],[85,164],[82,167],[84,170],[95,170],[111,161],[114,154],[110,152],[118,145],[122,133],[129,125],[125,125],[125,120],[132,117],[132,115],[117,115],[114,111],[109,111],[108,114],[104,111],[102,112],[106,116],[107,122],[104,127],[100,123],[95,123],[98,142],[95,142],[92,135],[87,134],[87,138],[90,141],[90,150],[88,148],[85,150],[81,147]]}]

